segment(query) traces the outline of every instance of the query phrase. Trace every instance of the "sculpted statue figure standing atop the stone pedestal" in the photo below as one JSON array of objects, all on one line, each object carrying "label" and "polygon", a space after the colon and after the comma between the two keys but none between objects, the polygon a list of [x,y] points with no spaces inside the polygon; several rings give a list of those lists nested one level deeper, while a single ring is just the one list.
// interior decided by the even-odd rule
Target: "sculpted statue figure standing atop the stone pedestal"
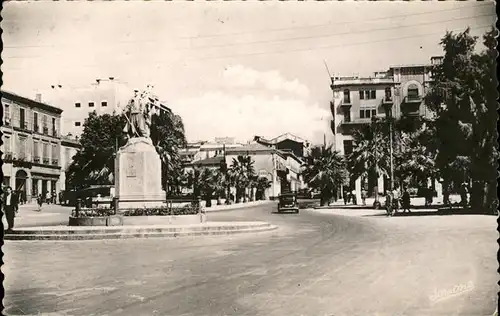
[{"label": "sculpted statue figure standing atop the stone pedestal", "polygon": [[[148,87],[149,88],[149,87]],[[125,107],[125,117],[127,124],[123,132],[129,138],[145,137],[150,138],[151,135],[151,117],[153,114],[152,107],[155,107],[149,91],[139,93],[134,91],[134,96]]]}]

